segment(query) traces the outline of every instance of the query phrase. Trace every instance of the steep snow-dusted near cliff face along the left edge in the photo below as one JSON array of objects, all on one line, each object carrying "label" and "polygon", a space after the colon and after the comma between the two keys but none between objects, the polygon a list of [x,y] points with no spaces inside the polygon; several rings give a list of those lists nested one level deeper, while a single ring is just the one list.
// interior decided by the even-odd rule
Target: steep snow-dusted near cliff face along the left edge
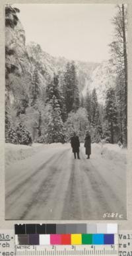
[{"label": "steep snow-dusted near cliff face along the left edge", "polygon": [[5,28],[5,85],[7,97],[19,101],[22,91],[28,93],[32,78],[30,60],[26,52],[25,32],[20,21]]}]

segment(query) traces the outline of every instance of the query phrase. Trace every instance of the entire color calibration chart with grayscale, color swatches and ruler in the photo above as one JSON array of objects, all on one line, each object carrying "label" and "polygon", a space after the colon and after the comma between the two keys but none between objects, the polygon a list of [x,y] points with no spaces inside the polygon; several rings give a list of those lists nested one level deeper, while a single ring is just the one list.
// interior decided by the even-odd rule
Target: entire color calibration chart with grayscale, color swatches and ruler
[{"label": "entire color calibration chart with grayscale, color swatches and ruler", "polygon": [[16,224],[16,255],[117,255],[117,224]]}]

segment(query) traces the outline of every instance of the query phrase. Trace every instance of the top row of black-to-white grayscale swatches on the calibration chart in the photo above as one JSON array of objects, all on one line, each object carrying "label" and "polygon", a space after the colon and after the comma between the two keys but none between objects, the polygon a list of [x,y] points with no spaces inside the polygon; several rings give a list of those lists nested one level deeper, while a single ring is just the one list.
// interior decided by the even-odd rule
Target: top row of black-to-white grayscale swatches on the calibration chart
[{"label": "top row of black-to-white grayscale swatches on the calibration chart", "polygon": [[117,234],[117,224],[16,224],[15,234]]}]

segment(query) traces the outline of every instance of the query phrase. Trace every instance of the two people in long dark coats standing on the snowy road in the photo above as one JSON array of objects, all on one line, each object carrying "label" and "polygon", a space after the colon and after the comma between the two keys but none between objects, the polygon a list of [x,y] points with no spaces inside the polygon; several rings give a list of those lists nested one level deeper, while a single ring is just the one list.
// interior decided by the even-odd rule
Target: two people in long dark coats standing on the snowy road
[{"label": "two people in long dark coats standing on the snowy road", "polygon": [[[85,153],[86,155],[88,155],[87,158],[89,159],[91,154],[91,137],[89,132],[86,132],[86,137],[84,139],[84,147],[86,149]],[[73,134],[73,137],[71,138],[71,148],[73,148],[75,159],[76,159],[76,154],[77,154],[77,158],[80,159],[79,157],[80,142],[79,142],[79,137],[75,132]]]}]

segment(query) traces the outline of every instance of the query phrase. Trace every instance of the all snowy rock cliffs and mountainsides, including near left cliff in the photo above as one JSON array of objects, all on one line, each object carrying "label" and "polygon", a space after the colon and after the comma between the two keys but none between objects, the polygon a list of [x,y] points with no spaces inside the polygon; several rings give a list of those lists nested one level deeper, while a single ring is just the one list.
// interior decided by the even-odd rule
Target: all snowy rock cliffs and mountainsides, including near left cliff
[{"label": "all snowy rock cliffs and mountainsides, including near left cliff", "polygon": [[[24,28],[18,21],[15,28],[6,27],[6,69],[9,70],[10,97],[20,98],[24,89],[29,93],[34,69],[38,67],[40,87],[46,87],[53,73],[62,73],[66,58],[55,58],[44,52],[39,44],[34,42],[26,46]],[[112,73],[109,62],[96,64],[91,62],[75,61],[79,91],[86,95],[86,91],[96,88],[98,100],[104,103],[104,95],[108,87],[115,85],[116,77]],[[12,72],[13,71],[13,72]],[[11,96],[12,95],[12,96]]]}]

